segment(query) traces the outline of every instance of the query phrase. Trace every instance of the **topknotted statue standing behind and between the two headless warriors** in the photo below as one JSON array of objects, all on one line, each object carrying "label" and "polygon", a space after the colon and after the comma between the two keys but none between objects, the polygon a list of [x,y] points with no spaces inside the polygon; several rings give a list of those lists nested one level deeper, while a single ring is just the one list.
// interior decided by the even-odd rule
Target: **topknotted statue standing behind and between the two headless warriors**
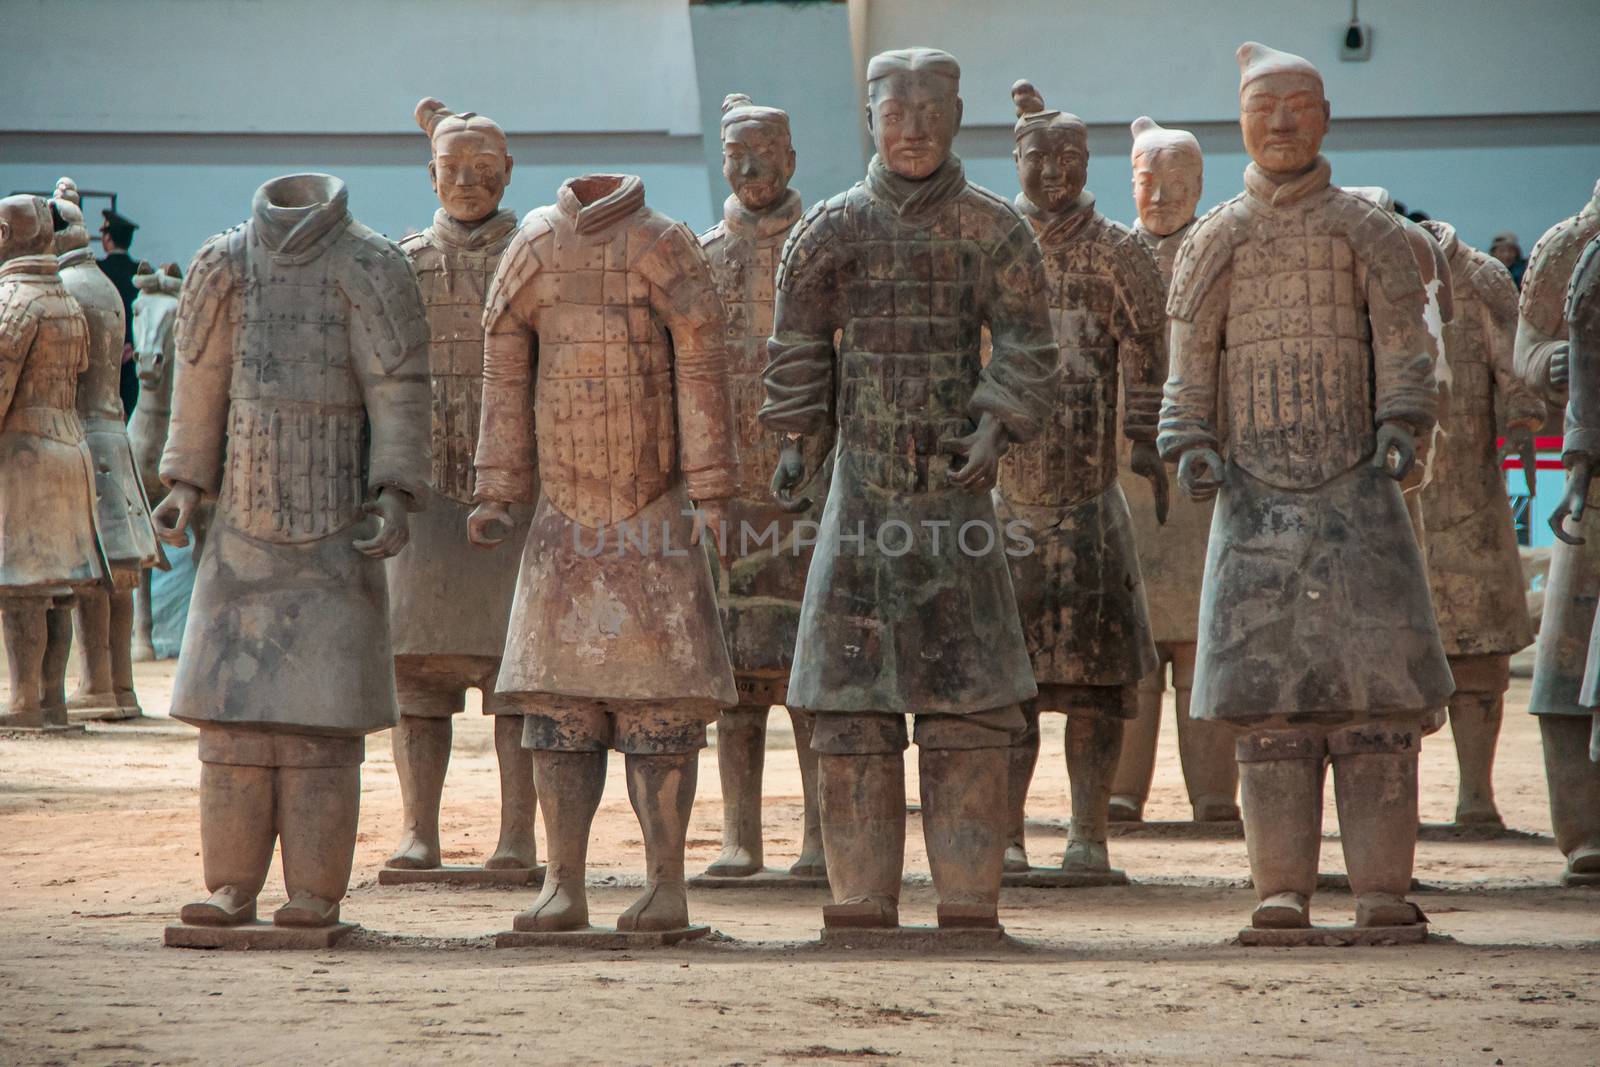
[{"label": "topknotted statue standing behind and between the two headless warriors", "polygon": [[[450,765],[451,715],[466,691],[483,694],[494,717],[501,830],[486,869],[531,870],[536,862],[533,761],[522,747],[522,715],[494,693],[506,619],[517,589],[517,557],[467,541],[472,454],[483,397],[483,301],[517,216],[501,205],[512,158],[506,133],[483,115],[456,115],[437,99],[416,106],[429,134],[427,165],[440,208],[434,224],[400,240],[422,288],[434,389],[434,478],[427,507],[411,523],[411,550],[389,560],[389,629],[400,725],[395,771],[405,825],[390,867],[440,865],[438,803]],[[512,531],[526,536],[526,514]]]}]

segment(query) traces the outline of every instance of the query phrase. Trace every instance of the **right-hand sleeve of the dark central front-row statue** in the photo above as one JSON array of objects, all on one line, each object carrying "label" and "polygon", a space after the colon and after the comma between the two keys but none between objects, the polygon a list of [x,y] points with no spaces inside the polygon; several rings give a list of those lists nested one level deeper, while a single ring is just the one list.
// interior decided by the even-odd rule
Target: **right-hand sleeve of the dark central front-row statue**
[{"label": "right-hand sleeve of the dark central front-row statue", "polygon": [[1045,296],[1045,258],[1034,230],[1010,206],[1010,230],[992,253],[984,293],[989,326],[989,365],[978,373],[978,389],[966,410],[976,419],[992,414],[1013,442],[1038,435],[1051,414],[1061,349],[1050,325]]}]

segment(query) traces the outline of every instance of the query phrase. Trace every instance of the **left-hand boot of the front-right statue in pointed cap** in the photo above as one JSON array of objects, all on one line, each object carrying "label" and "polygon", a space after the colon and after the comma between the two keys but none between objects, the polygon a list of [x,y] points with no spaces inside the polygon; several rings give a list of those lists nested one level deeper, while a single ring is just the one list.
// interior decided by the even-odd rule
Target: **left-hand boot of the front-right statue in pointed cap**
[{"label": "left-hand boot of the front-right statue in pointed cap", "polygon": [[1301,729],[1261,729],[1238,739],[1245,846],[1258,901],[1253,926],[1310,926],[1325,750],[1322,737]]}]

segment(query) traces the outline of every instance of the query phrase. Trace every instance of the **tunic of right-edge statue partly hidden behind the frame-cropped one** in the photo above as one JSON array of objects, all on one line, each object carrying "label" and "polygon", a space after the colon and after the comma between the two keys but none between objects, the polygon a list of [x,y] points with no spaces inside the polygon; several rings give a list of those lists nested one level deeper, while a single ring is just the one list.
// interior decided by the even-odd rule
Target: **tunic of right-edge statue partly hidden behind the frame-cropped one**
[{"label": "tunic of right-edge statue partly hidden behind the frame-cropped one", "polygon": [[[1566,288],[1584,246],[1600,235],[1600,182],[1584,210],[1552,226],[1533,246],[1522,277],[1517,373],[1547,403],[1566,405],[1568,390],[1549,386],[1550,357],[1566,342]],[[1573,523],[1584,544],[1557,541],[1544,587],[1544,616],[1533,661],[1528,710],[1534,715],[1589,715],[1578,701],[1589,657],[1589,635],[1600,605],[1600,490]]]}]

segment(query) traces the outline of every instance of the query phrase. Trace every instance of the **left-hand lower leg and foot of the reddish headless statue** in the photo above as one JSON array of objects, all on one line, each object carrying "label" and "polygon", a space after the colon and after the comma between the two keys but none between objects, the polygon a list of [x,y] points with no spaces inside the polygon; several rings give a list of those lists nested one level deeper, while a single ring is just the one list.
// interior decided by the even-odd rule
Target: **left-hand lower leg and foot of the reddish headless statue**
[{"label": "left-hand lower leg and foot of the reddish headless statue", "polygon": [[589,864],[589,830],[605,792],[606,752],[533,750],[533,784],[544,813],[549,857],[544,888],[517,929],[582,929],[589,925],[584,870]]}]

